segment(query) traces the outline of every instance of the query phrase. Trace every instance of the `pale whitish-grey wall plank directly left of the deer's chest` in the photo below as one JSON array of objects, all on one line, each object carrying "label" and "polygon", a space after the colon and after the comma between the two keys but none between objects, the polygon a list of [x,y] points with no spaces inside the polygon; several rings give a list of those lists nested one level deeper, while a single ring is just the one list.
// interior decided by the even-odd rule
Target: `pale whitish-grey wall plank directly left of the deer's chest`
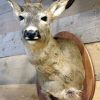
[{"label": "pale whitish-grey wall plank directly left of the deer's chest", "polygon": [[35,68],[25,55],[0,59],[0,85],[34,83],[35,79]]}]

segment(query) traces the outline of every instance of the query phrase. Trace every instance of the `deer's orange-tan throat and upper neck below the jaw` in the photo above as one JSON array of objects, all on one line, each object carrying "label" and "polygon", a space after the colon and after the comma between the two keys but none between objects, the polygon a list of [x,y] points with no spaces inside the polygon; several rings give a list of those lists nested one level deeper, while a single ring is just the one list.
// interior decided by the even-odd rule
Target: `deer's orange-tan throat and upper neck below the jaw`
[{"label": "deer's orange-tan throat and upper neck below the jaw", "polygon": [[36,45],[28,45],[28,47],[26,47],[27,49],[26,53],[28,55],[28,58],[34,64],[40,63],[38,62],[40,60],[41,62],[43,62],[42,60],[45,61],[45,59],[48,58],[47,56],[50,55],[50,51],[54,48],[55,49],[58,48],[56,46],[57,43],[53,38],[53,36],[51,35],[50,31],[49,33],[42,33],[42,34],[46,34],[45,40],[40,40],[39,42],[36,43]]}]

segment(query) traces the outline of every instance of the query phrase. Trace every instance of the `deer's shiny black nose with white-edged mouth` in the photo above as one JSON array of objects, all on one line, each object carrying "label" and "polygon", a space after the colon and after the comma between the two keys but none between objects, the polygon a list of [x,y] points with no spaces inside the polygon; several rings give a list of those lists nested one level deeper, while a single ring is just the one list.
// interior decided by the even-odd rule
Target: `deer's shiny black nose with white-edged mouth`
[{"label": "deer's shiny black nose with white-edged mouth", "polygon": [[38,40],[39,38],[41,38],[40,33],[38,30],[33,31],[33,30],[25,30],[24,31],[24,38],[26,40]]}]

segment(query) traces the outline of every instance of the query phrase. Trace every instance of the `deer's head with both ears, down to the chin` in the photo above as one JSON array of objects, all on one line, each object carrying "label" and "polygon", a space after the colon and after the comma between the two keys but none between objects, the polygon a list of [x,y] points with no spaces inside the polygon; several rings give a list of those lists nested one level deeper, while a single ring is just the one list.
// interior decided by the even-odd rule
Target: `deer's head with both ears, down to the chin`
[{"label": "deer's head with both ears, down to the chin", "polygon": [[74,0],[57,0],[47,9],[41,3],[32,3],[31,0],[24,0],[23,6],[15,0],[8,1],[23,25],[23,40],[33,44],[51,36],[50,23],[69,8]]}]

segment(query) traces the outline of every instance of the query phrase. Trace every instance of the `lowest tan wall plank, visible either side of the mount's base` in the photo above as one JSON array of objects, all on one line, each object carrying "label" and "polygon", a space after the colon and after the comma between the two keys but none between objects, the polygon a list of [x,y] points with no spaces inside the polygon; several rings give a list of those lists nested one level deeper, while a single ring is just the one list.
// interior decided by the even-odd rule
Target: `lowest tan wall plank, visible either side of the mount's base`
[{"label": "lowest tan wall plank, visible either side of the mount's base", "polygon": [[[38,100],[36,85],[2,85],[0,86],[0,100]],[[100,100],[100,81],[96,83],[93,100]]]}]

